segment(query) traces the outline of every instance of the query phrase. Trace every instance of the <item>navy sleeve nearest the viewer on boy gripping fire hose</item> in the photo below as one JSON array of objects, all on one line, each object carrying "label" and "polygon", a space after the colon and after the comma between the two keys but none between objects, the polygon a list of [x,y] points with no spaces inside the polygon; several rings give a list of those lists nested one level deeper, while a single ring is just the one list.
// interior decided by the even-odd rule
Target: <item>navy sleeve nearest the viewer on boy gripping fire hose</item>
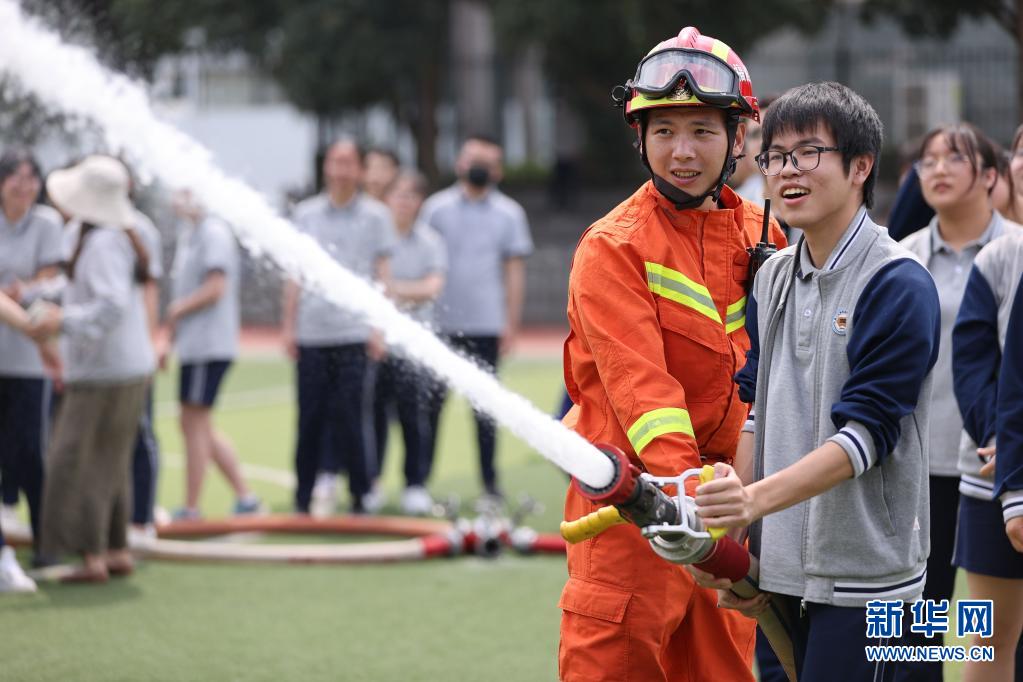
[{"label": "navy sleeve nearest the viewer on boy gripping fire hose", "polygon": [[849,378],[832,422],[862,424],[883,461],[898,442],[902,417],[917,408],[938,359],[941,307],[934,280],[910,259],[886,265],[856,302],[846,357]]}]

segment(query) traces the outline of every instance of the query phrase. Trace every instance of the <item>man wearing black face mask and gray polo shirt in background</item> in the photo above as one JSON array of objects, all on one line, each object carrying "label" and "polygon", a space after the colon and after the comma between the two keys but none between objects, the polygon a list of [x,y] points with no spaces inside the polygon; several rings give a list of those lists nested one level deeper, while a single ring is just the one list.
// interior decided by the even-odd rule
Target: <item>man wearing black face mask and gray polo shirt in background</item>
[{"label": "man wearing black face mask and gray polo shirt in background", "polygon": [[[515,343],[526,286],[525,259],[533,252],[526,212],[499,189],[503,152],[486,136],[465,140],[455,163],[457,182],[422,204],[421,219],[440,233],[448,252],[448,274],[437,302],[437,324],[448,344],[490,371]],[[447,391],[437,385],[430,405],[433,465],[437,425]],[[497,428],[476,412],[477,444],[485,499],[499,502],[494,464]]]}]

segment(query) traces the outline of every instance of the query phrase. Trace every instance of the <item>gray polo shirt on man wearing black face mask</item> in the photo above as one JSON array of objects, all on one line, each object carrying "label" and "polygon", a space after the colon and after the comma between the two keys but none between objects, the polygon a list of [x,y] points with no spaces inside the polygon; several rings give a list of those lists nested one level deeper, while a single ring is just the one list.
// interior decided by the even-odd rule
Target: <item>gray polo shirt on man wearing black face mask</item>
[{"label": "gray polo shirt on man wearing black face mask", "polygon": [[437,301],[440,330],[499,336],[507,324],[504,261],[533,253],[526,212],[496,188],[471,199],[454,185],[428,198],[420,217],[447,246],[447,280]]}]

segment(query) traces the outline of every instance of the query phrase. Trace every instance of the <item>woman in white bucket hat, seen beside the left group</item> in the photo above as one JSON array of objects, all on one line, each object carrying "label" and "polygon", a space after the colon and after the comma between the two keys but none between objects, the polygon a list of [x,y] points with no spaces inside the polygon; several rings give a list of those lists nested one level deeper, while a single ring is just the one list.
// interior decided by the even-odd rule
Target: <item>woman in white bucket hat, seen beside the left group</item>
[{"label": "woman in white bucket hat, seen beside the left group", "polygon": [[54,171],[46,190],[77,230],[62,307],[35,315],[36,338],[62,336],[64,396],[46,455],[41,552],[82,555],[65,580],[132,571],[127,528],[132,445],[154,369],[142,301],[148,256],[134,229],[129,176],[109,156]]}]

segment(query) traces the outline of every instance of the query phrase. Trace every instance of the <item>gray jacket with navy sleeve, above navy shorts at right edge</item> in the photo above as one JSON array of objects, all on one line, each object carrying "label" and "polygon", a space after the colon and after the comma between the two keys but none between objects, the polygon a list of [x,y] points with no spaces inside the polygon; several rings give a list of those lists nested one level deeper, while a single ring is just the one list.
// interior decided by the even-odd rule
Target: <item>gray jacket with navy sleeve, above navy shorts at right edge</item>
[{"label": "gray jacket with navy sleeve, above navy shorts at right edge", "polygon": [[977,447],[994,444],[998,369],[1021,275],[1023,231],[1014,230],[977,256],[952,329],[952,382],[965,431],[960,492],[981,500],[994,499],[994,483],[980,475]]}]

